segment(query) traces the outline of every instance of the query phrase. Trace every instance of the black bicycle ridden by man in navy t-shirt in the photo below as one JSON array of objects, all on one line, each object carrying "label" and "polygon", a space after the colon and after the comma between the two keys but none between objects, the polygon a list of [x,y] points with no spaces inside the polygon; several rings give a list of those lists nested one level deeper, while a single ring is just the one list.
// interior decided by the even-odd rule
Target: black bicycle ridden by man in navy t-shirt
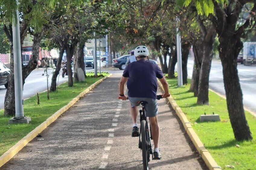
[{"label": "black bicycle ridden by man in navy t-shirt", "polygon": [[[162,95],[157,95],[156,99],[160,100]],[[151,125],[150,126],[150,137],[149,137],[149,127],[145,113],[145,105],[147,104],[146,101],[139,101],[138,106],[141,106],[142,109],[139,110],[140,115],[140,131],[139,131],[139,148],[142,150],[142,160],[143,160],[143,169],[149,169],[149,161],[150,155],[152,155],[153,159],[153,151],[150,139],[152,139],[151,134]]]}]

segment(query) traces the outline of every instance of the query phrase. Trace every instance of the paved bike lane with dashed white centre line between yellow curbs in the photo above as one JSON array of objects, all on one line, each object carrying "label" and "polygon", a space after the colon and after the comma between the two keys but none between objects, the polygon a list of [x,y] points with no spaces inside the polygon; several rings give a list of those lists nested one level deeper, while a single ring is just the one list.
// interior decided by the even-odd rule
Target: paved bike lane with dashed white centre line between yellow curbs
[{"label": "paved bike lane with dashed white centre line between yellow curbs", "polygon": [[[142,169],[129,102],[117,99],[120,76],[104,80],[0,169]],[[207,169],[165,99],[158,108],[163,158],[150,169]]]}]

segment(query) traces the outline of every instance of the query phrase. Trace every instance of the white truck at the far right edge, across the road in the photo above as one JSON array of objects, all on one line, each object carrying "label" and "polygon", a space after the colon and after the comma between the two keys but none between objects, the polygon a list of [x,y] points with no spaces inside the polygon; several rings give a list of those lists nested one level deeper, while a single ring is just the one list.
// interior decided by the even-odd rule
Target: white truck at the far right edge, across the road
[{"label": "white truck at the far right edge, across the road", "polygon": [[256,64],[256,42],[244,42],[243,63],[245,66]]}]

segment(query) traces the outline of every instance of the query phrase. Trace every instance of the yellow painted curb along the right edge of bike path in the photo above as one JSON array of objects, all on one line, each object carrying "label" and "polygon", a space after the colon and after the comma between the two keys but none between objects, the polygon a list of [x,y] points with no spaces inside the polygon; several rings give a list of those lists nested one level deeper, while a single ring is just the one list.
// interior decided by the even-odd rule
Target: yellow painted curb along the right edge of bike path
[{"label": "yellow painted curb along the right edge of bike path", "polygon": [[[162,84],[158,80],[158,85],[164,90]],[[208,150],[203,146],[203,143],[200,141],[199,137],[197,136],[196,132],[192,128],[190,122],[187,120],[186,115],[182,112],[181,108],[176,104],[175,100],[172,98],[172,96],[168,97],[168,100],[175,112],[177,113],[178,117],[181,119],[181,122],[193,142],[194,146],[196,147],[198,153],[202,156],[203,161],[205,162],[206,166],[210,170],[220,170],[220,166],[217,165],[211,154],[208,152]]]}]

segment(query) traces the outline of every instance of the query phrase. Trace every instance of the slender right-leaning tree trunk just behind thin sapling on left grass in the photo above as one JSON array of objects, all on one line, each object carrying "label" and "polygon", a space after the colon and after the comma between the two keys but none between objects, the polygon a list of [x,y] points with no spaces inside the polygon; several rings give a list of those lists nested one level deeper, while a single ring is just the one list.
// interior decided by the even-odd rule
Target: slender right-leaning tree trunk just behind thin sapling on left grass
[{"label": "slender right-leaning tree trunk just behind thin sapling on left grass", "polygon": [[60,47],[59,48],[59,57],[58,57],[58,60],[57,60],[56,69],[53,72],[53,76],[52,76],[52,83],[51,83],[50,91],[56,91],[57,77],[58,77],[59,71],[61,69],[61,61],[62,61],[63,54],[64,54],[64,48]]}]

